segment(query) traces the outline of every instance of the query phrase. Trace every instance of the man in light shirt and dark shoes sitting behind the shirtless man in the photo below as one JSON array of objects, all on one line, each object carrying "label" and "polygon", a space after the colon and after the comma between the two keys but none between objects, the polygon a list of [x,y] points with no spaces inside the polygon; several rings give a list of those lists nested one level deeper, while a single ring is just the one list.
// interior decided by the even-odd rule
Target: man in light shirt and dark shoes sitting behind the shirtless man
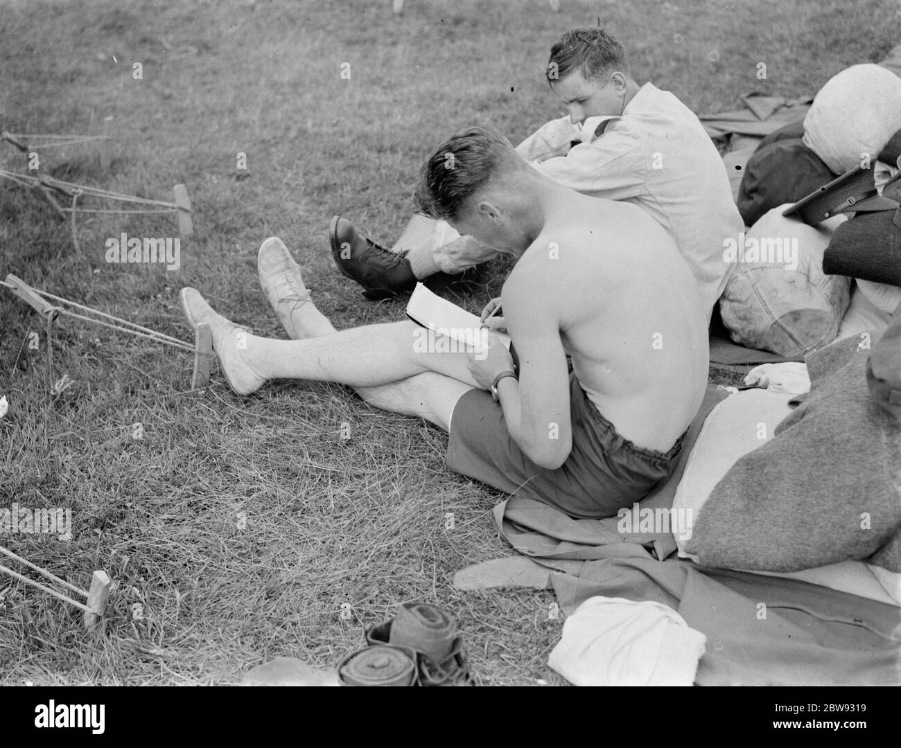
[{"label": "man in light shirt and dark shoes sitting behind the shirtless man", "polygon": [[[603,29],[566,32],[551,48],[545,75],[569,116],[548,122],[516,151],[561,185],[648,212],[676,240],[709,314],[731,271],[724,239],[737,238],[744,224],[723,161],[696,115],[669,92],[638,86],[622,45]],[[414,216],[391,251],[338,217],[331,242],[341,272],[372,298],[496,254],[423,216]]]}]

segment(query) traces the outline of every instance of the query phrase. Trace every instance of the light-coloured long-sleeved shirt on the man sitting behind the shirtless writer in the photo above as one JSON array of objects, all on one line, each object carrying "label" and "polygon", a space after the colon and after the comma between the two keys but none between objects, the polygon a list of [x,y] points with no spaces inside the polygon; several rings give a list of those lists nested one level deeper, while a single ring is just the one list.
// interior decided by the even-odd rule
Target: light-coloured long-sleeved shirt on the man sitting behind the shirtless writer
[{"label": "light-coloured long-sleeved shirt on the man sitting behind the shirtless writer", "polygon": [[[598,131],[600,134],[597,134]],[[723,159],[695,113],[669,91],[642,86],[620,117],[545,124],[516,151],[580,193],[635,203],[676,239],[712,310],[733,265],[724,240],[739,240],[738,212]]]}]

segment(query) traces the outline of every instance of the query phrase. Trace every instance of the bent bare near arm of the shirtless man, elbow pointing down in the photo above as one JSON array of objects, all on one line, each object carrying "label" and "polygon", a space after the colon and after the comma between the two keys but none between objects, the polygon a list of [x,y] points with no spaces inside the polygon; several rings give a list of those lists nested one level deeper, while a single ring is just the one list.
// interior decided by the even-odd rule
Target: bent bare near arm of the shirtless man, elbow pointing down
[{"label": "bent bare near arm of the shirtless man, elbow pointing down", "polygon": [[510,435],[533,463],[554,470],[572,449],[569,371],[560,325],[542,278],[505,284],[504,320],[519,356],[519,381],[502,379],[497,393]]}]

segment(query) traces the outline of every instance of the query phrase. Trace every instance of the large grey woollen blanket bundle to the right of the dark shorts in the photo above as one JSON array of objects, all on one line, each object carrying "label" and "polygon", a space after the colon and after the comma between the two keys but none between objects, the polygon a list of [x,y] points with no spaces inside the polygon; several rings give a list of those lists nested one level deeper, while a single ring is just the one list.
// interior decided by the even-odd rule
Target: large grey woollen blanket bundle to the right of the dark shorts
[{"label": "large grey woollen blanket bundle to the right of the dark shorts", "polygon": [[810,394],[716,484],[687,553],[733,569],[856,559],[901,572],[901,423],[867,385],[878,338],[865,333],[807,357]]}]

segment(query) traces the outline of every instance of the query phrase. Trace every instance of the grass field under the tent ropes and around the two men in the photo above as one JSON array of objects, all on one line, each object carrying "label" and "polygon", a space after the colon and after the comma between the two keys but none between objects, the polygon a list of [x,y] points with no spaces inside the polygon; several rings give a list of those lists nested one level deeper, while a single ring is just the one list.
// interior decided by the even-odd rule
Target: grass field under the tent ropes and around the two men
[{"label": "grass field under the tent ropes and around the two men", "polygon": [[[39,195],[0,181],[0,277],[185,340],[177,292],[194,285],[284,337],[256,274],[260,242],[278,235],[339,329],[394,320],[402,304],[365,302],[335,271],[328,221],[341,212],[390,241],[439,140],[490,123],[518,142],[559,116],[542,68],[565,29],[600,19],[640,83],[714,113],[755,90],[813,94],[882,59],[901,28],[896,0],[390,5],[0,0],[0,129],[99,132],[113,115],[107,171],[92,146],[72,146],[46,151],[41,172],[163,200],[183,182],[196,227],[177,271],[108,265],[106,239],[171,237],[175,222],[82,216],[76,249]],[[0,143],[0,167],[25,164]],[[481,309],[505,267],[458,302]],[[187,353],[73,320],[53,329],[50,367],[41,320],[5,289],[0,320],[0,508],[67,507],[73,521],[68,542],[0,544],[80,585],[100,568],[115,581],[88,634],[77,610],[0,575],[0,684],[230,684],[279,655],[332,665],[411,599],[460,617],[484,684],[563,682],[547,667],[561,626],[550,592],[451,587],[460,568],[511,551],[490,515],[500,494],[444,470],[438,429],[336,385],[242,399],[214,370],[213,386],[188,392]],[[63,374],[74,384],[51,396]]]}]

